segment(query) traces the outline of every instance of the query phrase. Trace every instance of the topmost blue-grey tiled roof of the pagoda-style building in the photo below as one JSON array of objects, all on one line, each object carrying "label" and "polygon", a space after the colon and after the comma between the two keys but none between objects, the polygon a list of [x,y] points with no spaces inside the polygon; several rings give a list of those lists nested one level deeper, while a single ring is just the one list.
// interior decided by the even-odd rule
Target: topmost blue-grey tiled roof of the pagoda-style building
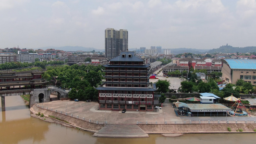
[{"label": "topmost blue-grey tiled roof of the pagoda-style building", "polygon": [[[125,55],[125,57],[123,57]],[[131,55],[132,57],[129,57]],[[117,56],[110,61],[144,61],[143,59],[135,56],[134,51],[121,52],[120,56]]]}]

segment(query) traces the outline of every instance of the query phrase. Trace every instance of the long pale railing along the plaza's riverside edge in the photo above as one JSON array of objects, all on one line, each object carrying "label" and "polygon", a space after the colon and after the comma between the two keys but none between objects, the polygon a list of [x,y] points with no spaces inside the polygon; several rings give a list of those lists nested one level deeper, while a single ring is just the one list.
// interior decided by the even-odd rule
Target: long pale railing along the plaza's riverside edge
[{"label": "long pale railing along the plaza's riverside edge", "polygon": [[[83,120],[86,122],[94,123],[94,124],[121,124],[117,121],[107,121],[106,117],[104,121],[100,120],[91,120],[85,119],[85,117],[79,117],[78,115],[73,115],[70,113],[66,113],[65,111],[60,111],[57,109],[52,109],[44,106],[40,106],[36,104],[37,108],[46,109],[49,111],[56,112],[58,114],[66,115],[68,117],[72,117],[78,120]],[[131,121],[130,123],[125,124],[239,124],[239,123],[256,123],[256,120],[183,120],[183,121]]]}]

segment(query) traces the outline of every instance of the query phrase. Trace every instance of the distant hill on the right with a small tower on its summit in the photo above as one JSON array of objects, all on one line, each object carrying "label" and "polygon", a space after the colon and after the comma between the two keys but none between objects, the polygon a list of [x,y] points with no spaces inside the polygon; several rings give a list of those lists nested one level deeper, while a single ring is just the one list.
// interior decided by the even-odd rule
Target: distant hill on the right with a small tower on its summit
[{"label": "distant hill on the right with a small tower on its summit", "polygon": [[239,47],[232,47],[232,46],[221,46],[219,48],[213,48],[209,51],[207,51],[207,53],[247,53],[247,52],[256,52],[256,47],[244,47],[244,48],[239,48]]}]

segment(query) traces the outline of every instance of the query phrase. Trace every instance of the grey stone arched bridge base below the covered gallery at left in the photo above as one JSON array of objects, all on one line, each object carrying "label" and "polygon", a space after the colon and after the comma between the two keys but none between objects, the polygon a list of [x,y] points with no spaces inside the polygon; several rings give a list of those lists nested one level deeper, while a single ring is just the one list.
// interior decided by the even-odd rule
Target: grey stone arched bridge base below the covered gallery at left
[{"label": "grey stone arched bridge base below the covered gallery at left", "polygon": [[35,103],[49,102],[50,94],[53,92],[58,93],[58,99],[68,97],[68,90],[61,89],[56,86],[48,86],[48,88],[40,89],[19,89],[19,90],[5,90],[0,91],[2,111],[5,111],[5,96],[21,96],[30,95],[29,106]]}]

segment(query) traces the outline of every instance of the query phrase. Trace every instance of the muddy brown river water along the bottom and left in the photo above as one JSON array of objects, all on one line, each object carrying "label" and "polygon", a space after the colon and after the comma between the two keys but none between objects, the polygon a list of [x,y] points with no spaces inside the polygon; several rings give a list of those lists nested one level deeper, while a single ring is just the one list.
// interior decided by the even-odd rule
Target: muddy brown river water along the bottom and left
[{"label": "muddy brown river water along the bottom and left", "polygon": [[255,144],[256,141],[256,133],[97,138],[91,132],[31,117],[20,96],[6,96],[5,106],[6,111],[0,111],[0,144]]}]

